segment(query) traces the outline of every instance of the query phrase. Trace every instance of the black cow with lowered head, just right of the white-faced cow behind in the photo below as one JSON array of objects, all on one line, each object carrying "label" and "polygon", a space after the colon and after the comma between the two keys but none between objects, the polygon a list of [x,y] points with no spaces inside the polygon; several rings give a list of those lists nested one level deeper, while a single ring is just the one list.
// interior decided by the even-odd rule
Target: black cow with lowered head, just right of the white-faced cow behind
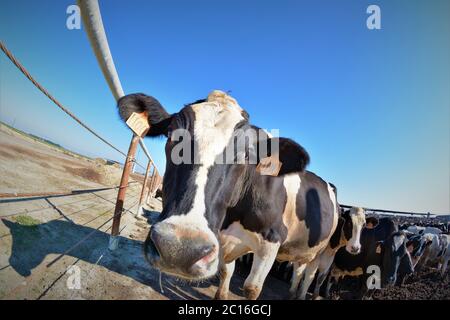
[{"label": "black cow with lowered head, just right of the white-faced cow behind", "polygon": [[371,229],[364,228],[361,233],[360,254],[351,255],[343,248],[337,251],[330,271],[326,296],[329,297],[332,283],[345,276],[360,277],[361,289],[364,292],[368,289],[367,279],[376,270],[381,273],[379,275],[381,287],[396,283],[397,271],[401,264],[407,267],[403,270],[405,274],[412,273],[414,267],[406,248],[407,240],[406,233],[397,231],[394,222],[389,218],[380,218],[378,224]]}]

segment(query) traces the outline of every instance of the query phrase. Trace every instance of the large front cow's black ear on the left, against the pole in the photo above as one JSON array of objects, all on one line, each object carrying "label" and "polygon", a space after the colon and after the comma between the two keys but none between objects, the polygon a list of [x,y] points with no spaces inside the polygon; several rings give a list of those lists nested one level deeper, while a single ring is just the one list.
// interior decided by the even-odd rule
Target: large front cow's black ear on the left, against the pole
[{"label": "large front cow's black ear on the left, against the pole", "polygon": [[133,113],[146,113],[150,129],[147,136],[167,136],[167,130],[171,122],[171,115],[164,109],[159,101],[143,93],[134,93],[123,96],[117,102],[119,115],[123,121],[127,121]]}]

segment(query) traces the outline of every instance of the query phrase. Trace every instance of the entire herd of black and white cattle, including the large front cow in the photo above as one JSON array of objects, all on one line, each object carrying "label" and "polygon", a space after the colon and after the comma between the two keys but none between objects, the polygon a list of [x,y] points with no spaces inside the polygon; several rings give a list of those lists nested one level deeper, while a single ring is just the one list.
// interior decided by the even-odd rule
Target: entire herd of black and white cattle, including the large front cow
[{"label": "entire herd of black and white cattle, including the large front cow", "polygon": [[[305,170],[306,150],[251,125],[230,95],[213,91],[174,114],[144,94],[127,95],[118,107],[124,121],[147,114],[147,136],[167,138],[163,210],[144,244],[147,261],[162,272],[188,280],[218,274],[218,299],[227,298],[235,262],[248,253],[248,299],[258,298],[278,262],[292,265],[290,296],[298,299],[306,299],[314,279],[315,297],[322,285],[329,292],[345,275],[367,278],[363,286],[376,287],[399,284],[426,263],[440,262],[445,272],[448,235],[366,218],[362,208],[341,211],[337,188]],[[245,148],[236,151],[234,142],[242,137]],[[180,148],[186,145],[192,148]],[[268,152],[258,152],[257,163],[218,161],[229,159],[229,150],[234,160],[247,160],[261,149]],[[275,174],[259,170],[273,163],[280,165]]]}]

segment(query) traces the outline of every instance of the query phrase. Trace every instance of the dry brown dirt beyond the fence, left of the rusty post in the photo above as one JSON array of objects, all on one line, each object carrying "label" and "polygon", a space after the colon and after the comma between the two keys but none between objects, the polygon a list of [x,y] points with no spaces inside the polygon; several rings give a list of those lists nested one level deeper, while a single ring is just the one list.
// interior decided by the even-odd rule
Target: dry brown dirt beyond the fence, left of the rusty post
[{"label": "dry brown dirt beyond the fence, left of the rusty post", "polygon": [[0,194],[113,186],[120,175],[117,166],[71,154],[0,124]]}]

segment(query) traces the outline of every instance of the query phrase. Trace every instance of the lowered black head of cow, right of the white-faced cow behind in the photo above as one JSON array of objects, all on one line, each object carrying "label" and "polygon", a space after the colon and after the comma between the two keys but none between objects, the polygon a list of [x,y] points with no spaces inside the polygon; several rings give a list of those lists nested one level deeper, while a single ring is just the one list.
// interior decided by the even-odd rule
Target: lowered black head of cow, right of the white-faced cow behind
[{"label": "lowered black head of cow, right of the white-faced cow behind", "polygon": [[[377,243],[376,252],[381,254],[381,285],[394,285],[397,280],[397,272],[399,270],[402,259],[407,255],[406,262],[412,271],[412,261],[406,248],[408,239],[402,231],[392,233],[384,241]],[[412,272],[411,271],[411,272]],[[405,271],[410,273],[409,271]]]}]

